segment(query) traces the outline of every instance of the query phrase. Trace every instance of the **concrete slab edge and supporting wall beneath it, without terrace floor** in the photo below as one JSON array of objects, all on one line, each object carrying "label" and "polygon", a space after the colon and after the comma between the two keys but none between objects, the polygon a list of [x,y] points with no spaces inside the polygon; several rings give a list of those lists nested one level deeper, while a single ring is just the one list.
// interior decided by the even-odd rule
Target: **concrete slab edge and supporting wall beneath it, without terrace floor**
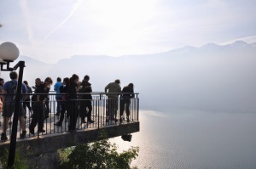
[{"label": "concrete slab edge and supporting wall beneath it, without terrace floor", "polygon": [[[139,132],[139,121],[104,128],[78,130],[77,132],[42,135],[39,139],[38,137],[25,138],[17,140],[16,147],[20,149],[31,168],[55,169],[58,167],[57,149],[95,142],[99,139],[102,131],[107,133],[108,138]],[[0,149],[2,148],[9,149],[9,143],[0,144]]]}]

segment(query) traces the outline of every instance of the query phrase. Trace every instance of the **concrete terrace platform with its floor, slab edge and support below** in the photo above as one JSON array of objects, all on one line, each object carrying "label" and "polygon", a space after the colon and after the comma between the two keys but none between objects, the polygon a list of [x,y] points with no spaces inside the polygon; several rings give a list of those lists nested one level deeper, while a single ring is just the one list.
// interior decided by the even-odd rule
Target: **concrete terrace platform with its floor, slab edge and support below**
[{"label": "concrete terrace platform with its floor, slab edge and support below", "polygon": [[[106,122],[102,116],[93,116],[95,123],[81,123],[78,119],[78,130],[76,132],[67,132],[67,123],[63,121],[62,127],[54,125],[58,121],[57,115],[50,115],[45,120],[44,130],[39,133],[35,128],[35,135],[29,134],[28,125],[30,118],[26,118],[26,138],[19,139],[20,133],[17,134],[16,149],[23,154],[31,168],[56,168],[58,166],[57,149],[63,149],[79,144],[89,144],[99,140],[102,132],[106,133],[107,138],[119,137],[132,132],[139,132],[139,121],[130,122]],[[3,118],[1,118],[3,121]],[[2,127],[1,127],[2,129]],[[10,129],[9,129],[10,130]],[[7,132],[9,138],[10,131]],[[0,149],[9,150],[10,141],[0,142]],[[0,167],[1,168],[1,167]]]}]

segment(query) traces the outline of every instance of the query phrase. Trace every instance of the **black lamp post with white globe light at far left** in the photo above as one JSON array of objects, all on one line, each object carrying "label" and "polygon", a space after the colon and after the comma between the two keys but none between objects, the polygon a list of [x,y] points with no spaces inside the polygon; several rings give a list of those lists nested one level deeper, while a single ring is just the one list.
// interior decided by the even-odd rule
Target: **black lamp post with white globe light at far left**
[{"label": "black lamp post with white globe light at far left", "polygon": [[[21,84],[23,77],[23,70],[25,67],[24,61],[19,61],[15,67],[9,67],[9,63],[13,62],[19,57],[20,51],[19,48],[12,42],[3,42],[0,45],[0,65],[2,71],[13,71],[17,70],[19,67],[19,78],[17,84],[17,93],[15,96],[15,112],[12,126],[12,133],[9,144],[9,158],[8,158],[8,168],[11,168],[15,162],[15,150],[16,150],[16,138],[17,138],[17,126],[18,118],[20,113],[20,98],[21,98]],[[3,68],[3,65],[6,65],[6,68]]]}]

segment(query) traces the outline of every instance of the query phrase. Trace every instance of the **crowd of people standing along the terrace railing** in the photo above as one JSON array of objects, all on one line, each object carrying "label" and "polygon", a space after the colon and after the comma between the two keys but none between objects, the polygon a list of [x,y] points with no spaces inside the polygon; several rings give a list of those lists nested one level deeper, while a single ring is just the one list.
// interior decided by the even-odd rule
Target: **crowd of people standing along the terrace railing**
[{"label": "crowd of people standing along the terrace railing", "polygon": [[[3,112],[3,131],[1,134],[1,141],[8,140],[6,131],[9,127],[9,121],[15,110],[15,95],[17,88],[18,74],[15,71],[9,73],[10,81],[4,82],[3,78],[0,78],[0,112]],[[56,100],[56,113],[59,115],[59,121],[55,122],[55,126],[61,127],[64,117],[66,115],[66,121],[68,121],[68,131],[76,131],[76,125],[78,117],[81,118],[82,123],[87,122],[94,123],[91,117],[92,111],[92,88],[89,82],[90,76],[84,76],[82,82],[79,81],[79,76],[73,74],[72,77],[65,77],[61,82],[61,77],[57,78],[57,82],[54,85],[55,100]],[[19,121],[20,138],[26,138],[26,108],[29,110],[30,117],[32,118],[29,124],[29,132],[35,133],[35,127],[38,126],[38,132],[45,132],[44,119],[49,117],[49,90],[53,81],[50,77],[46,77],[44,82],[40,78],[35,79],[35,86],[30,87],[27,81],[21,84],[22,97],[19,104]],[[105,93],[107,93],[108,101],[106,107],[106,122],[119,121],[123,122],[124,111],[126,112],[127,122],[130,121],[130,104],[131,98],[134,97],[133,84],[123,87],[121,90],[119,79],[114,82],[110,82],[105,87]],[[34,94],[30,98],[34,89]],[[24,94],[26,93],[26,94]],[[85,94],[79,94],[85,93]],[[119,99],[120,97],[120,99]],[[120,100],[120,102],[119,102]],[[32,105],[31,105],[32,104]],[[118,107],[119,106],[119,107]],[[119,110],[119,120],[117,119],[117,112]],[[1,125],[1,124],[0,124]]]}]

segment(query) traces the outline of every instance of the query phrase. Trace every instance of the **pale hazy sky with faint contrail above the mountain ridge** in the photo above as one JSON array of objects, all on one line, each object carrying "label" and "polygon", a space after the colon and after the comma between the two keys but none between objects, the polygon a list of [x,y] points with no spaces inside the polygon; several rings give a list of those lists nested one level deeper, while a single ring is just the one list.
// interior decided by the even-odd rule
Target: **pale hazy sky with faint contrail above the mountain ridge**
[{"label": "pale hazy sky with faint contrail above the mountain ridge", "polygon": [[0,8],[0,42],[48,63],[256,42],[255,0],[1,0]]}]

